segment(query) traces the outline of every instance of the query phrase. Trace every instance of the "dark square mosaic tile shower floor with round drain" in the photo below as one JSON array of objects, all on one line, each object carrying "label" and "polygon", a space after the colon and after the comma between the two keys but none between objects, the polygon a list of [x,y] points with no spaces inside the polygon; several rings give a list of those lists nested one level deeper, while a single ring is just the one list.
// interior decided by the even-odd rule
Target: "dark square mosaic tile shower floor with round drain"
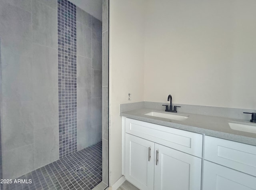
[{"label": "dark square mosaic tile shower floor with round drain", "polygon": [[28,184],[7,184],[4,190],[91,190],[102,181],[102,142],[17,179]]}]

